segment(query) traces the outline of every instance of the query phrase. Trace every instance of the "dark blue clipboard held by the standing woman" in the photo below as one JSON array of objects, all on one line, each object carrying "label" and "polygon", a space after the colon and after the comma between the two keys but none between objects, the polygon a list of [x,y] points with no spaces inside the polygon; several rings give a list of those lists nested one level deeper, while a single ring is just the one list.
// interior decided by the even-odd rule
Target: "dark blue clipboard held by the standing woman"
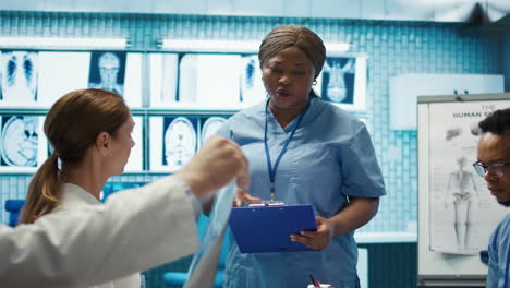
[{"label": "dark blue clipboard held by the standing woman", "polygon": [[236,207],[229,225],[241,253],[317,251],[290,240],[291,233],[317,230],[312,205]]}]

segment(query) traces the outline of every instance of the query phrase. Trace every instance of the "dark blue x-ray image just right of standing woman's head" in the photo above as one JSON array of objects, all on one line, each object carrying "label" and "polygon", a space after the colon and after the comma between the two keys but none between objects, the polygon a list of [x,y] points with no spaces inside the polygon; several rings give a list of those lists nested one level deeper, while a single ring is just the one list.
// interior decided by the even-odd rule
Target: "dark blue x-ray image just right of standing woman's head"
[{"label": "dark blue x-ray image just right of standing woman's head", "polygon": [[354,104],[355,58],[327,58],[321,72],[320,96],[331,103]]}]

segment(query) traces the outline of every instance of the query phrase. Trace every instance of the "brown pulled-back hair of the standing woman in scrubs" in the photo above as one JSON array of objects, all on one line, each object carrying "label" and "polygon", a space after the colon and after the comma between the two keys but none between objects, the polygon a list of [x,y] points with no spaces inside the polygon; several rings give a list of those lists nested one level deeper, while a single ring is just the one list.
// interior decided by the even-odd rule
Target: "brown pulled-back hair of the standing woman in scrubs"
[{"label": "brown pulled-back hair of the standing woman in scrubs", "polygon": [[281,25],[269,32],[258,50],[260,68],[266,60],[292,46],[300,48],[312,61],[315,68],[314,79],[316,79],[326,60],[326,47],[317,34],[303,26]]}]

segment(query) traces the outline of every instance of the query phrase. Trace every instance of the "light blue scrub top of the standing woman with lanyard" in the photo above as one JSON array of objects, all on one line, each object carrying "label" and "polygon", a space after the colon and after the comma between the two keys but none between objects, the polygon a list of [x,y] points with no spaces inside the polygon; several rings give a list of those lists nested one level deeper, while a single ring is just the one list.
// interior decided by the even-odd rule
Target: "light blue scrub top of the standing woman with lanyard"
[{"label": "light blue scrub top of the standing woman with lanyard", "polygon": [[[250,160],[248,193],[270,199],[264,148],[265,106],[259,104],[232,116],[219,134],[241,145]],[[282,129],[268,109],[271,165],[299,117]],[[286,204],[312,204],[316,216],[330,218],[348,204],[348,196],[385,195],[382,176],[363,122],[337,106],[312,98],[309,108],[282,156],[275,181],[275,197]],[[275,219],[278,220],[278,219]],[[264,231],[260,231],[264,232]],[[232,237],[232,236],[231,236]],[[357,248],[353,232],[333,237],[319,252],[242,254],[231,239],[224,287],[306,287],[309,274],[337,287],[359,287]]]}]

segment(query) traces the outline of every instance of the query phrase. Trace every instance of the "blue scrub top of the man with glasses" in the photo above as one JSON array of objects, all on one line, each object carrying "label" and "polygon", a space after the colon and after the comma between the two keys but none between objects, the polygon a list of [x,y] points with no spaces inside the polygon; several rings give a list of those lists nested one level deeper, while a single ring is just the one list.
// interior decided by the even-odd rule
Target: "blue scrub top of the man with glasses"
[{"label": "blue scrub top of the man with glasses", "polygon": [[[510,214],[499,223],[490,236],[488,252],[489,265],[486,287],[508,288],[510,285],[510,275],[507,271],[510,261]],[[507,286],[505,286],[505,279],[507,279]]]}]

